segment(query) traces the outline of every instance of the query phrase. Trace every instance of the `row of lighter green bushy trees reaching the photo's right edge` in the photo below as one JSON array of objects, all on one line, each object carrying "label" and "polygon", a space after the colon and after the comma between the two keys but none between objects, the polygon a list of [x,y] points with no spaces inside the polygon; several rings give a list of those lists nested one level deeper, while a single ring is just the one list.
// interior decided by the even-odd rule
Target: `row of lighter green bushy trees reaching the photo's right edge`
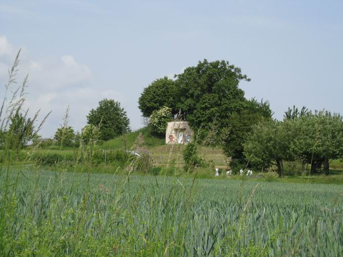
[{"label": "row of lighter green bushy trees reaching the photo's right edge", "polygon": [[264,121],[253,126],[244,143],[246,158],[253,164],[268,168],[276,165],[282,176],[284,161],[301,161],[311,165],[311,173],[329,159],[343,154],[343,120],[330,112],[307,113],[283,121]]}]

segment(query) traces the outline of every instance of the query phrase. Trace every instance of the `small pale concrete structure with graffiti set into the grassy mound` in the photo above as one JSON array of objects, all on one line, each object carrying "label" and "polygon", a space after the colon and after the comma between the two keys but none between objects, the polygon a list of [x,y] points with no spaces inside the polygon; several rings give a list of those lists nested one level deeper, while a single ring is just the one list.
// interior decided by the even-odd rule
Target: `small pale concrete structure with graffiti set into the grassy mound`
[{"label": "small pale concrete structure with graffiti set into the grassy mound", "polygon": [[165,144],[187,144],[194,131],[187,121],[169,121],[165,132]]}]

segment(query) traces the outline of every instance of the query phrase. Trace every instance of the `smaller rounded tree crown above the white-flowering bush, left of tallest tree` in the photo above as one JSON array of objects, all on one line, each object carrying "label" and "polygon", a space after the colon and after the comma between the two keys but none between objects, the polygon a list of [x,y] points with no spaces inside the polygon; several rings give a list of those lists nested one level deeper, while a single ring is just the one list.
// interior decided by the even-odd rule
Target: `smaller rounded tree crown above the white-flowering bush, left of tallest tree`
[{"label": "smaller rounded tree crown above the white-flowering bush, left of tallest tree", "polygon": [[153,81],[148,87],[144,88],[139,97],[138,104],[143,117],[149,117],[153,111],[167,106],[175,110],[175,83],[173,80],[163,77]]}]

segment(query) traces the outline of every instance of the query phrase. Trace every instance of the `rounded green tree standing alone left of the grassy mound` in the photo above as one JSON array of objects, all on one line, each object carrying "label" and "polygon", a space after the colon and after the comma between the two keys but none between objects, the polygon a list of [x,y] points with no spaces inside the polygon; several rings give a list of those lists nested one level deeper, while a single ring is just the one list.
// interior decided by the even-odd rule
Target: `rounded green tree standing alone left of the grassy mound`
[{"label": "rounded green tree standing alone left of the grassy mound", "polygon": [[130,120],[120,106],[112,99],[103,99],[96,109],[87,115],[87,123],[100,128],[100,139],[109,140],[130,132]]}]

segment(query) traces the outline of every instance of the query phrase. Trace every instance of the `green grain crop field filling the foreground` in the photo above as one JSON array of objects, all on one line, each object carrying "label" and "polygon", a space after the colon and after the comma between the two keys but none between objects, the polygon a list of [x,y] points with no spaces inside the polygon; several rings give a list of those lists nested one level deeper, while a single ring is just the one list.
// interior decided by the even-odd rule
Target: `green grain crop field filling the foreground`
[{"label": "green grain crop field filling the foreground", "polygon": [[2,256],[341,256],[343,186],[2,169]]}]

